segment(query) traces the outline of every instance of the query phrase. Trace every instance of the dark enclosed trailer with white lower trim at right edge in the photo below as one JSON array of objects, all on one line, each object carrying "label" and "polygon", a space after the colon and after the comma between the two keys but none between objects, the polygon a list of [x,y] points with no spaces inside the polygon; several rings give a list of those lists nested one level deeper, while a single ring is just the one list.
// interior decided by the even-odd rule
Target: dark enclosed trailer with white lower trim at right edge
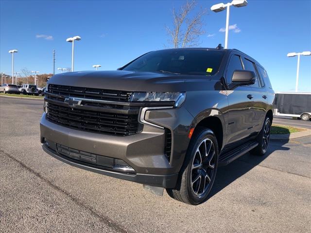
[{"label": "dark enclosed trailer with white lower trim at right edge", "polygon": [[274,100],[275,116],[300,117],[311,119],[310,92],[277,92]]}]

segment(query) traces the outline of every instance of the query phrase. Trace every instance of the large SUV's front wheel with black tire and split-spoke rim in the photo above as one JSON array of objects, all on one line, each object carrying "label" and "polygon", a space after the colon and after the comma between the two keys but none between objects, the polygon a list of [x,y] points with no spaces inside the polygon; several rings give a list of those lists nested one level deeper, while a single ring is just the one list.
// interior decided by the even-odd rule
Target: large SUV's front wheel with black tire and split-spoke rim
[{"label": "large SUV's front wheel with black tire and split-spoke rim", "polygon": [[201,204],[208,199],[217,167],[218,144],[215,134],[209,129],[199,128],[191,138],[176,187],[166,190],[175,200],[191,205]]}]

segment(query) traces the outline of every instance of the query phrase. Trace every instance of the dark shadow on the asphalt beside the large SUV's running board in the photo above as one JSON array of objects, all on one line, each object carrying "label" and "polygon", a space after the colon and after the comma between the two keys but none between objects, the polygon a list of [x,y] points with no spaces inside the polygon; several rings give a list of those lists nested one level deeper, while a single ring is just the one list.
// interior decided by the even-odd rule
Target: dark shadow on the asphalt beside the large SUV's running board
[{"label": "dark shadow on the asphalt beside the large SUV's running board", "polygon": [[227,185],[234,182],[236,179],[244,175],[246,172],[253,169],[265,160],[271,153],[276,150],[290,150],[284,146],[289,141],[289,138],[282,140],[271,140],[269,148],[264,156],[258,156],[251,153],[246,153],[239,159],[233,161],[227,166],[219,167],[217,170],[214,185],[209,193],[209,198],[224,189]]}]

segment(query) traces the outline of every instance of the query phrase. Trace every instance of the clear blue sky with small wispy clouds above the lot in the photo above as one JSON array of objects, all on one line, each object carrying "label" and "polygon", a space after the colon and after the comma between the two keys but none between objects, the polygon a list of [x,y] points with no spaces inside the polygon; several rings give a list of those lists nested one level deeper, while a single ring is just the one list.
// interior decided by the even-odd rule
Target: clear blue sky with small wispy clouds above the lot
[{"label": "clear blue sky with small wispy clouds above the lot", "polygon": [[[52,72],[71,66],[70,36],[75,43],[75,71],[113,70],[137,56],[168,44],[165,25],[172,25],[172,7],[185,1],[3,1],[0,5],[0,69],[11,73],[11,54],[17,49],[15,70],[23,67]],[[209,9],[221,1],[198,1]],[[249,0],[230,8],[229,48],[242,50],[263,65],[276,91],[294,91],[297,58],[288,52],[311,50],[311,1]],[[226,3],[226,2],[225,2]],[[201,47],[224,44],[225,11],[208,12]],[[56,73],[58,71],[56,70]],[[302,56],[299,90],[311,92],[311,56]]]}]

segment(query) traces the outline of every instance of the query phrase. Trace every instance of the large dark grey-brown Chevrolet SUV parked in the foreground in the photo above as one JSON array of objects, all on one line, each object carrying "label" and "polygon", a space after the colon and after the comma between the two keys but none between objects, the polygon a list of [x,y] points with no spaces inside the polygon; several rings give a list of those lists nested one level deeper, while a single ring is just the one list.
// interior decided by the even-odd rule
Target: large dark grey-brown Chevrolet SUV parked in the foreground
[{"label": "large dark grey-brown Chevrolet SUV parked in the foreground", "polygon": [[65,163],[195,205],[218,166],[266,153],[273,100],[266,70],[239,50],[152,51],[116,71],[54,75],[41,143]]}]

